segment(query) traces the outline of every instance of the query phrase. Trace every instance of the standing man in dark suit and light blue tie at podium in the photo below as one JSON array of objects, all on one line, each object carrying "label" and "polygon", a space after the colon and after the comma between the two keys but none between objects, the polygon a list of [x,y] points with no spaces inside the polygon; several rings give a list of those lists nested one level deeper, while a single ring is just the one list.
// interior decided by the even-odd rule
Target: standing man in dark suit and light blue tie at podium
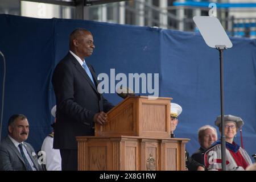
[{"label": "standing man in dark suit and light blue tie at podium", "polygon": [[94,123],[104,125],[114,107],[97,91],[94,69],[85,63],[95,48],[93,36],[77,28],[69,37],[69,52],[57,64],[52,84],[56,96],[53,147],[60,149],[63,170],[77,170],[76,136],[93,136]]}]

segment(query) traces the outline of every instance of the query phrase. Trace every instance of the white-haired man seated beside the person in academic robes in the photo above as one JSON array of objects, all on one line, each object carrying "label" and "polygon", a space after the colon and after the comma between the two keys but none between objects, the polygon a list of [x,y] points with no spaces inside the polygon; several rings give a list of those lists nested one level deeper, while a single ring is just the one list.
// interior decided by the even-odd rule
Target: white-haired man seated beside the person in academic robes
[{"label": "white-haired man seated beside the person in academic robes", "polygon": [[204,152],[218,140],[217,130],[210,125],[200,127],[198,131],[198,140],[200,148],[191,156],[191,158],[204,165]]}]

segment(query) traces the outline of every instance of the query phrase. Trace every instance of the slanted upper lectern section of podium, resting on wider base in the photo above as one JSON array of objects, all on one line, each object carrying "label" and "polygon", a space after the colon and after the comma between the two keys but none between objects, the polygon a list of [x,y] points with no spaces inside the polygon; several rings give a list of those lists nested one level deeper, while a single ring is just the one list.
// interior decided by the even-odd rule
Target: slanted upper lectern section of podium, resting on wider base
[{"label": "slanted upper lectern section of podium, resting on wider base", "polygon": [[170,137],[170,100],[127,97],[108,112],[108,123],[95,125],[96,137]]}]

